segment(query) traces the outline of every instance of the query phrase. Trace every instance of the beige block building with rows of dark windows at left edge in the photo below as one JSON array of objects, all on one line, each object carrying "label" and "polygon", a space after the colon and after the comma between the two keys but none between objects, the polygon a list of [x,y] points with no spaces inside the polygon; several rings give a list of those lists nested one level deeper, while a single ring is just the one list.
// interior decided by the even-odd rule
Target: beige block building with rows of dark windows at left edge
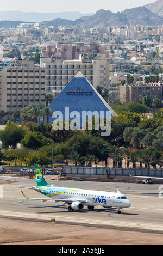
[{"label": "beige block building with rows of dark windows at left edge", "polygon": [[17,66],[0,68],[0,109],[7,118],[28,105],[45,103],[45,69],[19,60]]}]

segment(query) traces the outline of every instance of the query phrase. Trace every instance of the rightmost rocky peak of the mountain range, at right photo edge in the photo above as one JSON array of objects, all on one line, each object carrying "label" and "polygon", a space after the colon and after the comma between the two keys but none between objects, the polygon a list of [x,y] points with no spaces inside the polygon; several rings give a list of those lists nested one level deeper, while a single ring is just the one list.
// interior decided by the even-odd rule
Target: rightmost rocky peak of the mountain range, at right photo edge
[{"label": "rightmost rocky peak of the mountain range, at right photo edge", "polygon": [[127,17],[129,24],[132,25],[163,25],[162,17],[152,13],[145,7],[126,9],[122,11],[122,14]]}]

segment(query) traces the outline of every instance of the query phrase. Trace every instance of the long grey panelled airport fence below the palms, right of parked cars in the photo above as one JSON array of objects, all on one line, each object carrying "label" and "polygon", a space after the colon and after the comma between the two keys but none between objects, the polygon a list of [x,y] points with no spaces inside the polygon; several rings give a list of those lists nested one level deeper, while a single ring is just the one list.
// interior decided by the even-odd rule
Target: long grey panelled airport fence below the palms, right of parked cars
[{"label": "long grey panelled airport fence below the palms, right of parked cars", "polygon": [[73,167],[65,166],[63,168],[65,175],[108,175],[109,176],[153,176],[163,178],[163,169],[127,169],[127,168],[109,168],[109,167]]}]

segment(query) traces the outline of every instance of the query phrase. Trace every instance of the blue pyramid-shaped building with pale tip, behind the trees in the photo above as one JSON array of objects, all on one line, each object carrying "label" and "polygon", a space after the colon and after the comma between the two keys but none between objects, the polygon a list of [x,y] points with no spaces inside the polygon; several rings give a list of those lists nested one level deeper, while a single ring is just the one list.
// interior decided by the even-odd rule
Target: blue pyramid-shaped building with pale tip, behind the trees
[{"label": "blue pyramid-shaped building with pale tip, behind the trees", "polygon": [[[49,123],[61,119],[61,121],[71,121],[77,112],[80,115],[78,124],[80,129],[83,128],[84,120],[82,120],[82,114],[85,112],[93,113],[95,117],[99,117],[103,113],[103,117],[105,118],[111,118],[112,115],[116,115],[113,109],[80,71],[53,100],[49,108],[54,111],[53,116],[49,118]],[[59,113],[62,113],[62,115],[59,115]],[[87,117],[88,119],[89,117]]]}]

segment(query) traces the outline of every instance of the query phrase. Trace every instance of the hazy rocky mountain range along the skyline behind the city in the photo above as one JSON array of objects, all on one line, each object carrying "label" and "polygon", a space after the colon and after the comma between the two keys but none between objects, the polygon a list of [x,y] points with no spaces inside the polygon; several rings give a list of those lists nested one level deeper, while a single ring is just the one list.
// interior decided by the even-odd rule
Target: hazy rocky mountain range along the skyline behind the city
[{"label": "hazy rocky mountain range along the skyline behind the city", "polygon": [[[163,2],[163,0],[158,0],[156,2]],[[155,3],[156,3],[155,2]],[[163,4],[162,4],[163,5]],[[161,5],[160,5],[161,6]],[[1,11],[0,11],[1,17]],[[36,18],[35,18],[36,19]],[[23,21],[25,21],[23,19]],[[61,19],[57,17],[50,21],[44,20],[47,26],[87,26],[87,27],[108,27],[108,26],[121,26],[121,25],[163,25],[163,16],[153,13],[146,7],[137,7],[126,9],[121,13],[112,13],[110,10],[98,10],[94,15],[80,16],[76,20]],[[1,21],[0,27],[12,27],[16,26],[20,21]]]}]

